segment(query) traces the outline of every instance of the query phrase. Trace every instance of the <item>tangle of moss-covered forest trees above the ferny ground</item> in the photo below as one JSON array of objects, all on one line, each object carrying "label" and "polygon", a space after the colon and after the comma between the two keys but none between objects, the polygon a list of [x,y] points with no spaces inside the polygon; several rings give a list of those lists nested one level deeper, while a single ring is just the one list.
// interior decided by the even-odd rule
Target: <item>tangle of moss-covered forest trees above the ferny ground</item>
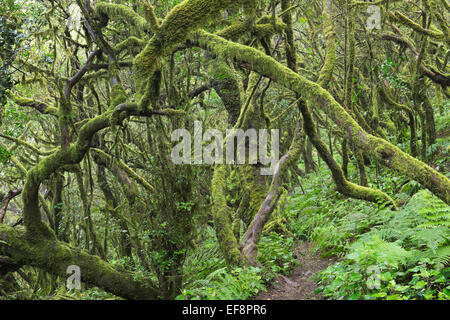
[{"label": "tangle of moss-covered forest trees above the ferny ground", "polygon": [[[402,209],[387,177],[450,204],[446,0],[0,4],[0,277],[53,290],[75,265],[174,299],[206,228],[228,268],[260,266],[274,212],[323,165],[368,206]],[[195,121],[279,129],[273,175],[175,164]]]}]

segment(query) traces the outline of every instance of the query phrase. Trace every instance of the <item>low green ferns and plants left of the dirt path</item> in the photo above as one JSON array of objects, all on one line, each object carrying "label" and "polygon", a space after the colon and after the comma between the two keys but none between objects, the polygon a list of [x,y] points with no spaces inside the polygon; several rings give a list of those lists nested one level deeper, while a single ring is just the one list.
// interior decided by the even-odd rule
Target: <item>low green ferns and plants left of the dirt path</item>
[{"label": "low green ferns and plants left of the dirt path", "polygon": [[278,274],[289,275],[297,265],[292,237],[271,232],[258,246],[261,267],[227,268],[219,251],[214,230],[205,230],[205,239],[187,258],[186,283],[177,299],[245,300],[260,291]]}]

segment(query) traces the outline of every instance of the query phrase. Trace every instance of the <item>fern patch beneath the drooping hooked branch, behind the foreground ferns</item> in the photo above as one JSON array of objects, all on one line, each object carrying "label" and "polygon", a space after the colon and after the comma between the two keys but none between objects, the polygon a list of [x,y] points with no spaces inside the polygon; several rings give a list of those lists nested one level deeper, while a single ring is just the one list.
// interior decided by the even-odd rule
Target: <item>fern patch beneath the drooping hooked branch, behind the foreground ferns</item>
[{"label": "fern patch beneath the drooping hooked branch, behind the foreground ferns", "polygon": [[321,169],[304,181],[304,193],[294,193],[286,206],[289,229],[300,240],[313,241],[323,255],[339,254],[361,232],[380,224],[390,210],[355,199],[342,199],[325,184],[330,173]]}]

